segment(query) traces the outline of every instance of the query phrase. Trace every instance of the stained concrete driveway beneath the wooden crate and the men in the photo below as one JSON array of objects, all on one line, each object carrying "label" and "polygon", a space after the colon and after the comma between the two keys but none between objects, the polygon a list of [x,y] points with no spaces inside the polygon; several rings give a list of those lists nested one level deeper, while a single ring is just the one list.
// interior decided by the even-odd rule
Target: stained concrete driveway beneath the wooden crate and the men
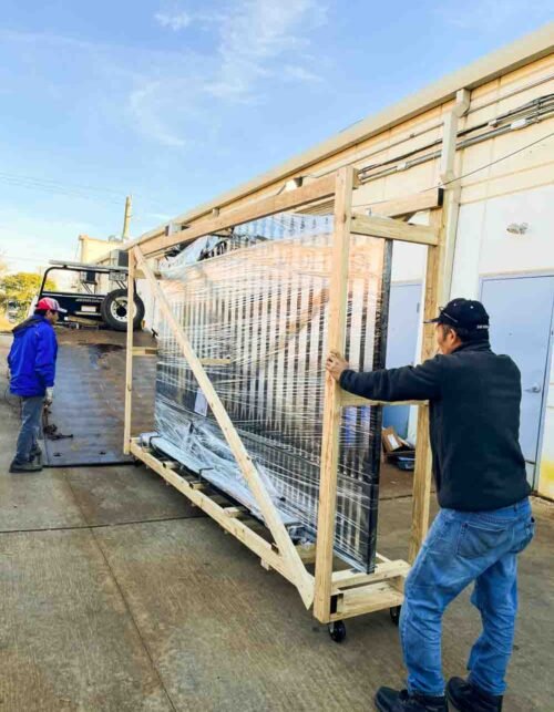
[{"label": "stained concrete driveway beneath the wooden crate and the men", "polygon": [[[8,344],[1,337],[1,710],[361,712],[380,684],[403,684],[387,611],[348,621],[334,643],[290,585],[146,468],[10,475]],[[380,507],[379,548],[393,557],[408,541],[402,476]],[[534,509],[506,712],[554,709],[554,506]],[[444,620],[447,675],[463,674],[479,630],[464,592]]]}]

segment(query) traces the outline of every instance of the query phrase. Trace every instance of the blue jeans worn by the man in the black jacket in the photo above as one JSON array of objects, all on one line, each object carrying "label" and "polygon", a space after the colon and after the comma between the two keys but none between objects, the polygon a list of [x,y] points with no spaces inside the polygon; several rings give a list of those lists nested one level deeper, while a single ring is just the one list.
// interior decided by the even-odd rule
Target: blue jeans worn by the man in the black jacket
[{"label": "blue jeans worn by the man in the black jacket", "polygon": [[444,694],[441,625],[447,606],[472,581],[483,632],[468,662],[470,681],[503,694],[517,610],[517,554],[533,538],[527,498],[493,512],[441,509],[406,580],[400,638],[410,692]]}]

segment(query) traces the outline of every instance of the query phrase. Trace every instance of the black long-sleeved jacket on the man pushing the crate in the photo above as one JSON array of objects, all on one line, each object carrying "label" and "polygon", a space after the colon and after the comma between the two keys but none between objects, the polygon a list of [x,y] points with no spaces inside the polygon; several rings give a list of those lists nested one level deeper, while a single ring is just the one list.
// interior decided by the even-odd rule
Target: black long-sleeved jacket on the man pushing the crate
[{"label": "black long-sleeved jacket on the man pushing the crate", "polygon": [[488,342],[466,343],[421,365],[357,373],[340,385],[377,401],[430,401],[433,474],[441,507],[499,509],[530,493],[519,443],[521,375]]}]

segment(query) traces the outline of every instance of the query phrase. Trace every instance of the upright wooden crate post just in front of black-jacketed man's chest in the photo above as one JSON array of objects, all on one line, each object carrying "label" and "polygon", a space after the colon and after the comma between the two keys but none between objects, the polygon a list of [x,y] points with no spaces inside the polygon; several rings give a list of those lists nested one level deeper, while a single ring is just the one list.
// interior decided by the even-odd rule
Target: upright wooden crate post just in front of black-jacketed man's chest
[{"label": "upright wooden crate post just in front of black-jacketed man's chest", "polygon": [[[439,244],[428,247],[425,271],[425,298],[423,320],[433,319],[439,311],[443,254],[443,209],[431,213],[430,224],[439,230]],[[434,324],[423,326],[421,360],[435,352]],[[429,406],[420,405],[416,443],[416,469],[413,472],[412,526],[408,560],[413,564],[429,528],[429,501],[431,496],[431,448],[429,445]]]}]

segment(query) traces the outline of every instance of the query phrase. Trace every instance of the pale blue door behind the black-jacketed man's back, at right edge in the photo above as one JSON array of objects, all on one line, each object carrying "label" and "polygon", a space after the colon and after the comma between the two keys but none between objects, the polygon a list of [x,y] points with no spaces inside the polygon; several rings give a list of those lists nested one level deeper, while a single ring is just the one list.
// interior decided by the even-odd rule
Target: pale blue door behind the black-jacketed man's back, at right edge
[{"label": "pale blue door behind the black-jacketed man's back, at right edge", "polygon": [[491,317],[491,345],[522,374],[520,443],[531,484],[538,452],[550,358],[554,276],[485,278],[481,299]]}]

